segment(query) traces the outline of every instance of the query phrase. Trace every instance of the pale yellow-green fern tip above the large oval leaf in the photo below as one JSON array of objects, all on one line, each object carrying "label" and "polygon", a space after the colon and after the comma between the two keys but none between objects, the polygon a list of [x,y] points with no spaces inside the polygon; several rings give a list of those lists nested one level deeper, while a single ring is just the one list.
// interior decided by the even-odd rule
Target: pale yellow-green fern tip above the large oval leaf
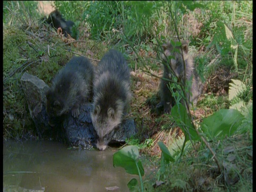
[{"label": "pale yellow-green fern tip above the large oval leaf", "polygon": [[246,86],[243,82],[237,79],[231,79],[231,83],[229,83],[229,91],[228,91],[228,99],[231,101],[239,94],[243,93],[246,90]]}]

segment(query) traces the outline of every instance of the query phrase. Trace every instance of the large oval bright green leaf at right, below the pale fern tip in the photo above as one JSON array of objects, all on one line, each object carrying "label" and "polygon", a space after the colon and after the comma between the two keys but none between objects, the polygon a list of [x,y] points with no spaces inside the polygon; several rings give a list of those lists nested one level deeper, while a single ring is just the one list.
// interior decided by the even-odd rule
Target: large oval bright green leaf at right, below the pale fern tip
[{"label": "large oval bright green leaf at right, below the pale fern tip", "polygon": [[241,126],[244,116],[236,109],[220,109],[213,115],[205,118],[202,131],[209,138],[224,139],[229,137]]}]

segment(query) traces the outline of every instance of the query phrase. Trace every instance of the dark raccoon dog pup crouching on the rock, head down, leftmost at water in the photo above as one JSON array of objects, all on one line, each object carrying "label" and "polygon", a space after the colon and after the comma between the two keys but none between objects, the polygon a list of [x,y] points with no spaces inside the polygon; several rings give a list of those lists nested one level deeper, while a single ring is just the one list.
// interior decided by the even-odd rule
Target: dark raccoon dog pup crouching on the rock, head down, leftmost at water
[{"label": "dark raccoon dog pup crouching on the rock, head down, leftmost at water", "polygon": [[46,91],[46,110],[51,117],[59,117],[71,110],[78,117],[79,107],[90,99],[94,66],[85,57],[73,57],[55,76]]}]

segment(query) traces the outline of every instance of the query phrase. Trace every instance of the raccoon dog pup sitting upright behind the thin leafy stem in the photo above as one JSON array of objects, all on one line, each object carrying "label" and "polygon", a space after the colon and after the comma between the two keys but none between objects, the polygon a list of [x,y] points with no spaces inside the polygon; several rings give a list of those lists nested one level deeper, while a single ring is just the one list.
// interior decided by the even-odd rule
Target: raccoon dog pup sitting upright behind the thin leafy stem
[{"label": "raccoon dog pup sitting upright behind the thin leafy stem", "polygon": [[[189,85],[189,81],[192,81],[189,92],[186,93],[186,97],[187,99],[189,98],[190,105],[191,103],[196,104],[202,92],[202,82],[196,73],[193,58],[188,54],[188,42],[181,41],[181,46],[173,46],[171,43],[163,44],[162,46],[164,50],[164,53],[161,54],[164,66],[163,78],[172,79],[173,76],[177,76],[178,82],[184,83],[186,80],[186,86]],[[174,49],[179,50],[179,52],[174,51]],[[186,70],[184,69],[182,54]],[[161,79],[161,102],[157,104],[157,108],[164,106],[164,113],[170,113],[175,100],[168,87],[170,82],[165,79]]]}]

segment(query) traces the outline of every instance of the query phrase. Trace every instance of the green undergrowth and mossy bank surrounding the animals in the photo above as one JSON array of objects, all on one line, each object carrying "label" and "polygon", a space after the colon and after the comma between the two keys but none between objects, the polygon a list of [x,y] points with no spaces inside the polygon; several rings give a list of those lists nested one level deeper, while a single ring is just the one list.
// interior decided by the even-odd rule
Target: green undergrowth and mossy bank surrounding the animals
[{"label": "green undergrowth and mossy bank surrounding the animals", "polygon": [[[252,191],[252,1],[54,2],[75,22],[77,42],[43,25],[37,2],[3,5],[3,139],[38,136],[21,89],[25,71],[49,84],[74,54],[96,64],[114,48],[132,70],[129,116],[138,133],[127,140],[132,147],[115,155],[138,168],[130,173],[141,183],[133,180],[129,188]],[[161,45],[173,39],[189,41],[204,94],[189,113],[178,103],[171,115],[161,115]],[[159,167],[155,175],[142,177],[138,148],[156,156],[145,161]]]}]

